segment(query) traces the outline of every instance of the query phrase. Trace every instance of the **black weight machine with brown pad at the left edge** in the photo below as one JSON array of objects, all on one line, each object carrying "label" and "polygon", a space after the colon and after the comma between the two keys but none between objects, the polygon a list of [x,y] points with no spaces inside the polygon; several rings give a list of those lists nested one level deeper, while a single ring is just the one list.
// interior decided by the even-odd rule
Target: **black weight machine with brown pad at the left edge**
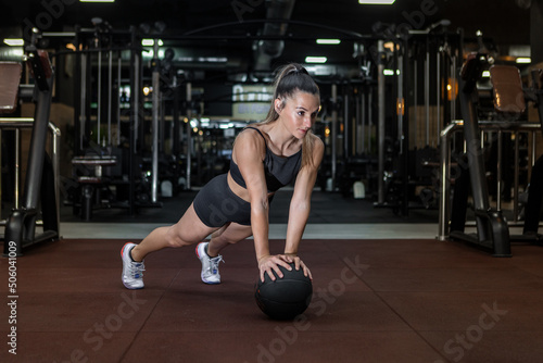
[{"label": "black weight machine with brown pad at the left edge", "polygon": [[[12,252],[11,247],[13,246],[16,254],[22,255],[23,248],[26,246],[59,238],[60,221],[59,205],[56,205],[56,179],[53,165],[46,152],[54,70],[49,61],[48,53],[36,47],[40,36],[37,29],[34,29],[33,39],[25,49],[27,63],[35,80],[34,100],[36,109],[23,202],[22,206],[15,208],[7,220],[4,255]],[[0,63],[0,68],[2,70],[2,82],[5,82],[5,93],[13,100],[11,107],[5,108],[5,110],[14,110],[17,92],[20,91],[21,64]],[[40,212],[43,220],[43,231],[36,234],[36,222]]]}]

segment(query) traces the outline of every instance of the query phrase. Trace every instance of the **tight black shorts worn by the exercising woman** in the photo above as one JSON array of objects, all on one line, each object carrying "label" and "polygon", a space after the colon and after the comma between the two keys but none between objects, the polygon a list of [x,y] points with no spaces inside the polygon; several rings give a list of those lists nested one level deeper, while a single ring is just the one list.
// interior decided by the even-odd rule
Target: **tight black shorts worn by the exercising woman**
[{"label": "tight black shorts worn by the exercising woman", "polygon": [[251,225],[251,203],[233,193],[228,174],[210,180],[193,201],[194,211],[207,227],[222,227],[228,222]]}]

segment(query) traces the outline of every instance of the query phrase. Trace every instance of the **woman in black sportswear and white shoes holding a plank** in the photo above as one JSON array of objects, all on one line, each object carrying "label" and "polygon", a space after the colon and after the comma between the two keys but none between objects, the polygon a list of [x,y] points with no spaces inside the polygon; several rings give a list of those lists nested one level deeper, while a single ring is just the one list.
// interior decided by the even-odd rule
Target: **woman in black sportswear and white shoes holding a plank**
[{"label": "woman in black sportswear and white shoes holding a plank", "polygon": [[[320,108],[319,89],[299,64],[279,70],[274,100],[266,120],[243,129],[232,149],[230,171],[213,178],[194,198],[177,224],[151,231],[139,245],[126,243],[122,251],[123,284],[143,288],[143,259],[166,247],[197,246],[202,262],[201,278],[219,284],[219,252],[225,247],[253,236],[260,277],[275,280],[279,266],[310,268],[298,249],[310,215],[311,195],[323,160],[324,143],[312,134]],[[282,186],[294,183],[290,202],[285,253],[272,255],[268,243],[269,202]],[[202,242],[211,235],[209,242]]]}]

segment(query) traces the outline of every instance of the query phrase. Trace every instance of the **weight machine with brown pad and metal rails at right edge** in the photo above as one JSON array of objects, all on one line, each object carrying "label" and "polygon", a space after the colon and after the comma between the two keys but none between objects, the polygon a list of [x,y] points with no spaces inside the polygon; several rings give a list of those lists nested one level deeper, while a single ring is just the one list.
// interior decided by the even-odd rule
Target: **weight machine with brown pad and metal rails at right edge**
[{"label": "weight machine with brown pad and metal rails at right edge", "polygon": [[[479,124],[476,101],[478,100],[477,83],[483,70],[490,66],[490,79],[492,84],[493,105],[496,122]],[[488,250],[493,256],[512,256],[512,241],[533,241],[535,236],[513,236],[509,234],[508,221],[504,217],[500,208],[490,205],[488,191],[487,172],[483,159],[483,146],[481,140],[481,128],[493,127],[497,129],[498,136],[498,175],[501,174],[501,134],[503,132],[516,132],[518,129],[538,129],[543,126],[543,117],[540,112],[541,125],[520,124],[519,118],[526,111],[526,98],[536,103],[541,111],[541,75],[540,71],[533,73],[533,88],[528,92],[522,88],[520,72],[515,66],[491,65],[488,55],[483,53],[471,53],[468,55],[462,68],[459,101],[463,114],[463,129],[465,135],[466,154],[458,160],[459,171],[455,177],[454,195],[452,201],[450,237],[454,240],[463,240]],[[529,93],[532,93],[530,96]],[[454,125],[453,125],[454,126]],[[529,127],[529,126],[538,126]],[[446,199],[450,197],[450,154],[447,137],[453,127],[442,134],[442,206],[440,208],[440,233],[443,235],[446,216]],[[518,139],[518,138],[516,138]],[[518,146],[516,148],[518,161]],[[515,179],[518,178],[518,165],[515,165]],[[500,185],[500,177],[498,177]],[[500,193],[500,187],[497,187]],[[517,188],[516,188],[517,189]],[[471,191],[473,213],[476,220],[476,234],[466,234],[466,212],[468,208],[468,191]],[[498,195],[500,196],[500,195]],[[518,203],[517,190],[515,190],[514,209]],[[541,206],[541,200],[536,201]],[[516,218],[516,216],[515,216]],[[441,236],[440,236],[441,238]]]}]

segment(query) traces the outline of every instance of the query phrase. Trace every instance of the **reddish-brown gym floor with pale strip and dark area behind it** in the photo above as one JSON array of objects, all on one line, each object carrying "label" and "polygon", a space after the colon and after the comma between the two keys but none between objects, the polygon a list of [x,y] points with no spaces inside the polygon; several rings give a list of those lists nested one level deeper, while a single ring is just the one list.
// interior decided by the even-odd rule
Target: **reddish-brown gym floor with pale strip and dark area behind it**
[{"label": "reddish-brown gym floor with pale strip and dark area behind it", "polygon": [[[162,209],[62,210],[54,242],[16,259],[16,305],[0,305],[1,362],[541,362],[543,248],[513,245],[497,259],[439,241],[437,211],[396,216],[366,200],[316,192],[301,255],[313,302],[294,322],[267,318],[254,301],[251,240],[223,253],[223,284],[204,285],[193,248],[146,260],[146,288],[121,284],[119,251],[175,222],[191,200]],[[280,252],[286,195],[270,215]],[[0,275],[9,276],[0,259]],[[12,310],[12,306],[16,310]],[[10,322],[16,316],[16,322]],[[16,327],[16,355],[8,334]]]}]

